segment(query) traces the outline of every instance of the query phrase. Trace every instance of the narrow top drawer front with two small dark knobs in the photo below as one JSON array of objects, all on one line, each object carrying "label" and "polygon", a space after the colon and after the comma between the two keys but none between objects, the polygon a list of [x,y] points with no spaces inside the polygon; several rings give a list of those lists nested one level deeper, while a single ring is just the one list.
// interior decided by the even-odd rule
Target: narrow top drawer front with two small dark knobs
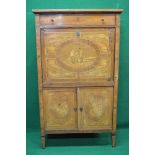
[{"label": "narrow top drawer front with two small dark knobs", "polygon": [[115,15],[42,15],[40,23],[53,26],[115,25]]}]

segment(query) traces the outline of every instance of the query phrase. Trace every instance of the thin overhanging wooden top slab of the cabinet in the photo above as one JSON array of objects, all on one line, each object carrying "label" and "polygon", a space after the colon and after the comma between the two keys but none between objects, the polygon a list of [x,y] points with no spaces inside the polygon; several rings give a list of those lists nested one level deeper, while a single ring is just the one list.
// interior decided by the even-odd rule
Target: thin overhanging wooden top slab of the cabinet
[{"label": "thin overhanging wooden top slab of the cabinet", "polygon": [[35,14],[45,13],[121,13],[123,9],[33,9]]}]

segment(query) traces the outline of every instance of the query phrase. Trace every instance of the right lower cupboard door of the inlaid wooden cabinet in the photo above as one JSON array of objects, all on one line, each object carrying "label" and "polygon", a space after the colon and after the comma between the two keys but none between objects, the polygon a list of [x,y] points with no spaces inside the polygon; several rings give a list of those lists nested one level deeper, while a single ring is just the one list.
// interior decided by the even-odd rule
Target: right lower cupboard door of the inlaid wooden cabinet
[{"label": "right lower cupboard door of the inlaid wooden cabinet", "polygon": [[113,88],[80,88],[79,129],[112,129]]}]

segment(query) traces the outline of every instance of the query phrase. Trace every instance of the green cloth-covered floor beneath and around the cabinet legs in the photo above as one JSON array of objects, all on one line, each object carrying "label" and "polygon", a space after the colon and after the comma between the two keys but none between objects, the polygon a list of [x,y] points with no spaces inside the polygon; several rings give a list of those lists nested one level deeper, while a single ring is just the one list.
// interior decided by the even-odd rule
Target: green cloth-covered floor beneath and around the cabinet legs
[{"label": "green cloth-covered floor beneath and around the cabinet legs", "polygon": [[129,130],[118,129],[116,147],[111,146],[111,134],[50,135],[46,148],[40,147],[40,131],[27,129],[27,155],[128,155]]}]

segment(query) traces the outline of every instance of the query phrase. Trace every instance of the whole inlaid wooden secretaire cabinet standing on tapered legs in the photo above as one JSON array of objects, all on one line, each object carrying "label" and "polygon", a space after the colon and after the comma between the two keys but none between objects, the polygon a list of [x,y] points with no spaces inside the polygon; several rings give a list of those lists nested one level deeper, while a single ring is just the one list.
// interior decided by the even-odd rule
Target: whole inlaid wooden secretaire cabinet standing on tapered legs
[{"label": "whole inlaid wooden secretaire cabinet standing on tapered legs", "polygon": [[122,10],[33,10],[42,147],[46,134],[112,134],[116,141]]}]

